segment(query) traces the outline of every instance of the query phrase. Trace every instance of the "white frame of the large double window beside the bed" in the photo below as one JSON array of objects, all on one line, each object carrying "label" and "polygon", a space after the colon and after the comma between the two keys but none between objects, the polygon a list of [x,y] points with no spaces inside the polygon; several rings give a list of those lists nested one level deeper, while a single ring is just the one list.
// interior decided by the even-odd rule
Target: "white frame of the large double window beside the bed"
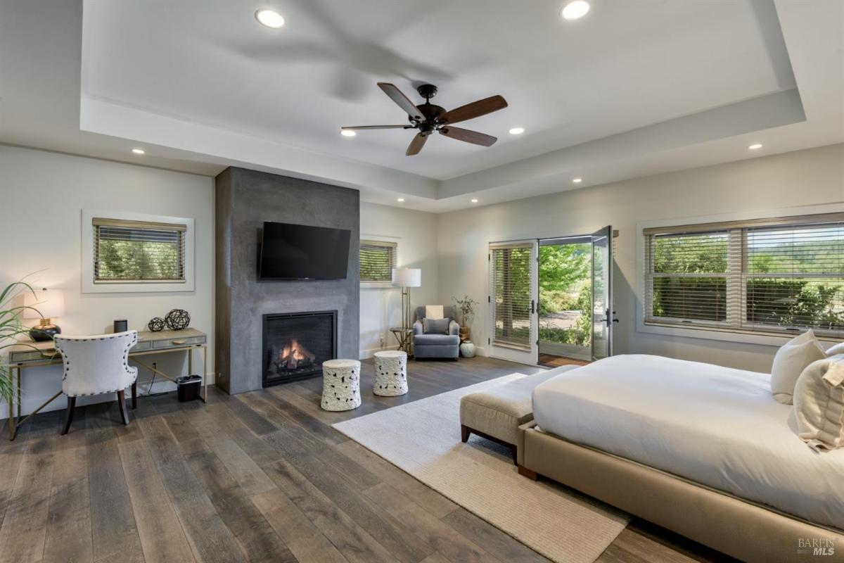
[{"label": "white frame of the large double window beside the bed", "polygon": [[[645,234],[645,231],[661,227],[668,228],[678,227],[681,225],[706,224],[720,224],[720,229],[713,230],[725,230],[723,224],[731,222],[736,222],[737,224],[759,222],[760,225],[763,225],[766,222],[773,223],[775,221],[793,221],[807,215],[841,213],[844,213],[844,204],[833,203],[800,208],[762,210],[758,212],[719,214],[692,218],[663,219],[637,223],[636,279],[638,291],[636,295],[636,332],[659,334],[663,336],[722,340],[733,343],[781,346],[793,338],[797,333],[778,333],[776,332],[776,329],[766,330],[766,328],[756,330],[750,328],[735,328],[734,324],[730,325],[729,323],[734,323],[736,319],[729,316],[727,321],[723,322],[721,326],[717,326],[715,322],[692,321],[688,323],[684,322],[683,325],[680,326],[676,323],[659,323],[649,320],[646,312],[647,307],[651,306],[648,283],[650,273],[652,272],[652,263],[649,263],[649,260],[652,259],[652,252],[649,252],[649,249],[647,248],[649,237]],[[738,231],[738,236],[731,236],[730,239],[728,239],[728,244],[734,244],[738,240],[738,244],[741,245],[740,252],[738,252],[738,260],[728,260],[728,272],[724,274],[727,277],[728,283],[728,299],[731,298],[731,295],[733,299],[735,298],[735,295],[738,295],[740,303],[737,308],[737,314],[741,316],[744,315],[746,306],[746,280],[752,275],[744,272],[743,268],[743,265],[746,262],[745,253],[747,252],[744,240],[746,231],[738,225],[726,230],[730,230],[731,232]],[[735,258],[735,256],[736,253],[733,252],[733,258]],[[738,268],[738,273],[735,271],[735,268]],[[731,291],[730,284],[741,284],[741,287],[734,288]],[[729,306],[728,311],[730,311]],[[820,333],[818,338],[829,343],[839,342],[839,338],[829,334]]]}]

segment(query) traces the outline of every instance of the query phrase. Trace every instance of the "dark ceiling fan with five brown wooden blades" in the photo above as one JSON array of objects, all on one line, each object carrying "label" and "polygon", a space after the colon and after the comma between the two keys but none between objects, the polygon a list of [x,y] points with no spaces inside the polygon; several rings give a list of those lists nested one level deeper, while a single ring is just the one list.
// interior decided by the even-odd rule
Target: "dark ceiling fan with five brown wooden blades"
[{"label": "dark ceiling fan with five brown wooden blades", "polygon": [[414,106],[414,103],[406,95],[403,95],[402,91],[393,84],[379,82],[378,87],[384,90],[384,94],[388,95],[390,100],[396,102],[400,108],[407,112],[410,124],[359,125],[354,127],[340,127],[341,130],[419,129],[419,133],[416,133],[416,136],[410,141],[407,152],[404,153],[408,156],[419,154],[419,151],[425,146],[425,141],[435,132],[449,138],[455,138],[458,141],[479,144],[484,147],[490,147],[498,140],[492,135],[486,135],[460,127],[452,127],[452,123],[465,122],[468,119],[485,116],[493,111],[503,110],[507,106],[507,101],[500,95],[473,101],[471,104],[457,107],[452,111],[446,111],[446,108],[430,103],[430,99],[436,95],[436,86],[434,84],[422,84],[416,89],[419,95],[425,98],[425,103],[419,104],[419,106]]}]

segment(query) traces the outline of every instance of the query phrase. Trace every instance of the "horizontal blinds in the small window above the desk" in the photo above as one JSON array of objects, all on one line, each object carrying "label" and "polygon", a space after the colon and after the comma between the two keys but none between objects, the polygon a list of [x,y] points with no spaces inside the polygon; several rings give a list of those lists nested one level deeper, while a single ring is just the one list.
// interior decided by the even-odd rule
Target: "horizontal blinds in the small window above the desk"
[{"label": "horizontal blinds in the small window above the desk", "polygon": [[185,280],[187,225],[93,219],[95,282]]}]

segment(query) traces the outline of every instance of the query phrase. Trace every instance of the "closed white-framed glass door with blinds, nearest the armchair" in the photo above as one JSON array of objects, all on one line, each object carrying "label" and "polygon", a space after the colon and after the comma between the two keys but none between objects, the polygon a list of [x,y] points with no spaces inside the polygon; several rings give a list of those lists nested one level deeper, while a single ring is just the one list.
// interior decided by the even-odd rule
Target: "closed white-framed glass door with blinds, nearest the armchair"
[{"label": "closed white-framed glass door with blinds, nearest the armchair", "polygon": [[536,364],[538,241],[490,245],[490,355]]}]

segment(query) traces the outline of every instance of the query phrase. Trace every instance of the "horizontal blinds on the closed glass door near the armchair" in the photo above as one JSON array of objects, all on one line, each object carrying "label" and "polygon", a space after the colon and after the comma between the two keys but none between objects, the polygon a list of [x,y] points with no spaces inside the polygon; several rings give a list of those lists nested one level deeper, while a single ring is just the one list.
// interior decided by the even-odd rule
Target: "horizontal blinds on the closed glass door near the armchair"
[{"label": "horizontal blinds on the closed glass door near the armchair", "polygon": [[530,349],[530,244],[490,248],[493,311],[497,344]]}]

